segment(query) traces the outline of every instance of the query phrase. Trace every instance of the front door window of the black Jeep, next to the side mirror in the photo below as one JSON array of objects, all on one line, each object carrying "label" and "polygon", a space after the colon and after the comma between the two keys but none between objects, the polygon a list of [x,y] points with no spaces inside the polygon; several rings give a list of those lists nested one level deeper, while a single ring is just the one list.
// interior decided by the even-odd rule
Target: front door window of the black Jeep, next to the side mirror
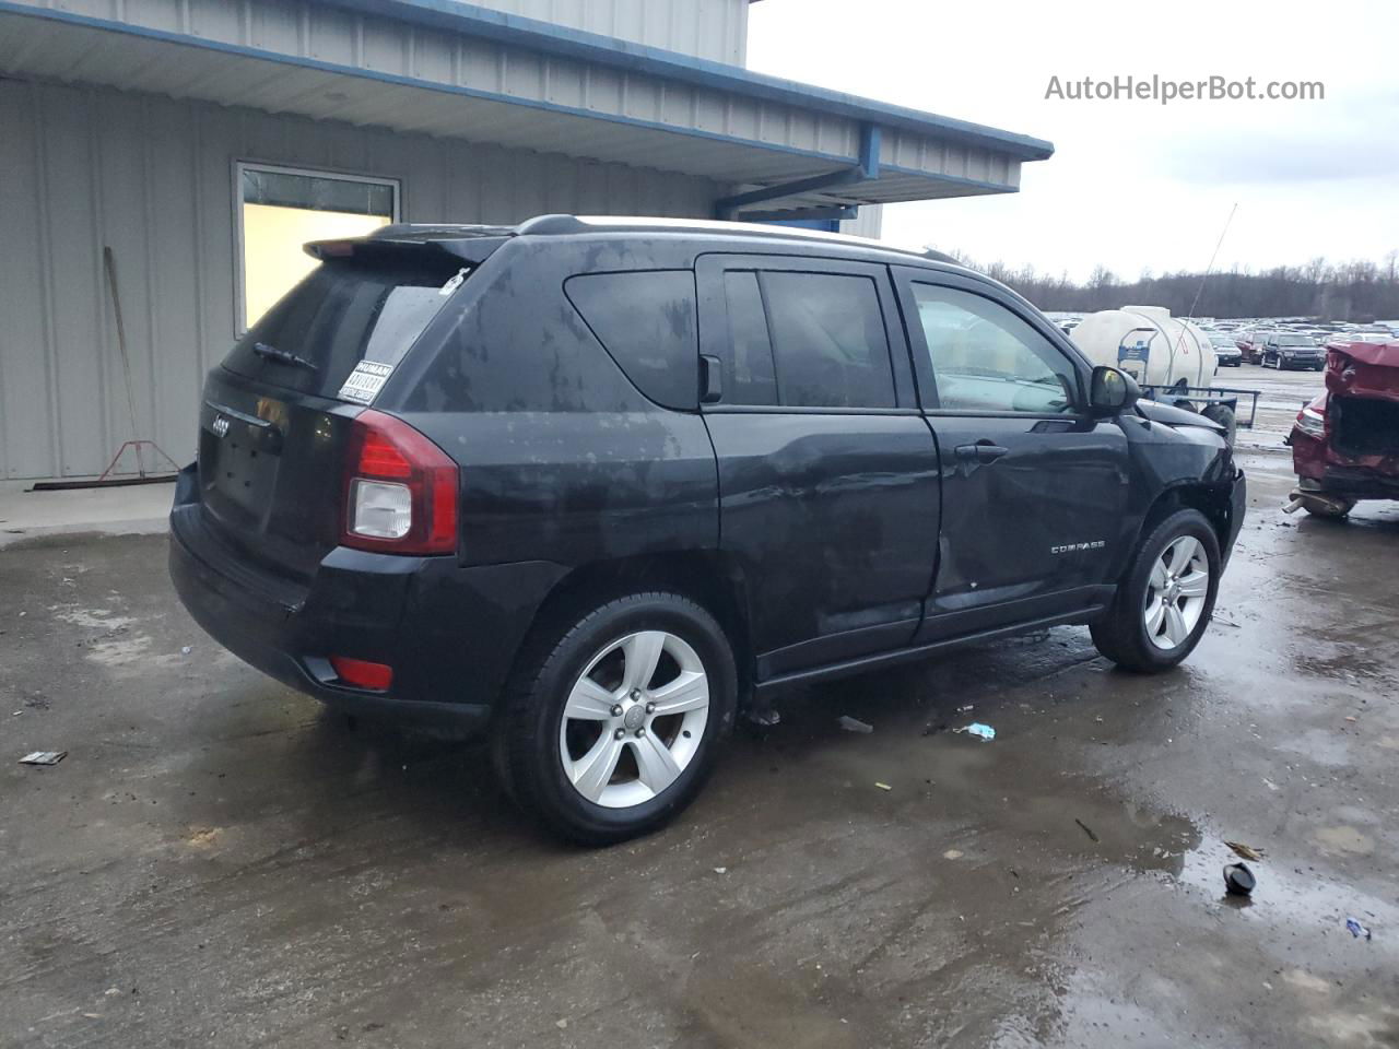
[{"label": "front door window of the black Jeep, next to the side mirror", "polygon": [[992,299],[936,284],[914,284],[932,358],[937,407],[947,411],[1074,410],[1069,358]]}]

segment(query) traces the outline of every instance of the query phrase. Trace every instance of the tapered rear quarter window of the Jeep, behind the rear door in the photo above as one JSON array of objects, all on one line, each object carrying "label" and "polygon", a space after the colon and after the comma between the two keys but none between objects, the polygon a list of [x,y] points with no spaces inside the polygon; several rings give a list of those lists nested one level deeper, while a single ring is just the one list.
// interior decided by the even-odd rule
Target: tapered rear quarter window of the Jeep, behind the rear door
[{"label": "tapered rear quarter window of the Jeep, behind the rear door", "polygon": [[589,273],[564,292],[617,366],[667,408],[700,403],[700,334],[690,270]]}]

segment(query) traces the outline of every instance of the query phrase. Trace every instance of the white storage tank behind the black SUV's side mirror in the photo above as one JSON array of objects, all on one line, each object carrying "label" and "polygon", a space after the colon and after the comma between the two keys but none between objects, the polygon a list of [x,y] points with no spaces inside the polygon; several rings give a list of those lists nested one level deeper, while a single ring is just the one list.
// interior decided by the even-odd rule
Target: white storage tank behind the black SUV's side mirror
[{"label": "white storage tank behind the black SUV's side mirror", "polygon": [[1207,387],[1214,379],[1210,340],[1164,306],[1087,313],[1070,338],[1093,364],[1121,368],[1142,385]]}]

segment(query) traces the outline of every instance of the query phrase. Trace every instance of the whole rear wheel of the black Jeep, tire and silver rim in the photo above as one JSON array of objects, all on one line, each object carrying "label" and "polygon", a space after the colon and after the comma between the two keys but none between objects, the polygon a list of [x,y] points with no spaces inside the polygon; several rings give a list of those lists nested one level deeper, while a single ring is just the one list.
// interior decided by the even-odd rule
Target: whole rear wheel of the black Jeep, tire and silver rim
[{"label": "whole rear wheel of the black Jeep, tire and silver rim", "polygon": [[543,627],[497,719],[506,793],[554,834],[651,834],[704,786],[733,726],[737,671],[713,617],[639,593]]}]

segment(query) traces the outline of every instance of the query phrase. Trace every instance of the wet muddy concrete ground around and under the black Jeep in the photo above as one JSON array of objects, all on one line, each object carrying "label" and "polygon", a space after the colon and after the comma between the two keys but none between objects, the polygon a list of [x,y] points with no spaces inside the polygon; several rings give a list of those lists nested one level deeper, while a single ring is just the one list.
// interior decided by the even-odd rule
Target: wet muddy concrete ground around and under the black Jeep
[{"label": "wet muddy concrete ground around and under the black Jeep", "polygon": [[797,694],[602,852],[221,652],[162,538],[0,551],[0,1045],[1399,1045],[1399,505],[1245,467],[1178,671],[1062,628]]}]

